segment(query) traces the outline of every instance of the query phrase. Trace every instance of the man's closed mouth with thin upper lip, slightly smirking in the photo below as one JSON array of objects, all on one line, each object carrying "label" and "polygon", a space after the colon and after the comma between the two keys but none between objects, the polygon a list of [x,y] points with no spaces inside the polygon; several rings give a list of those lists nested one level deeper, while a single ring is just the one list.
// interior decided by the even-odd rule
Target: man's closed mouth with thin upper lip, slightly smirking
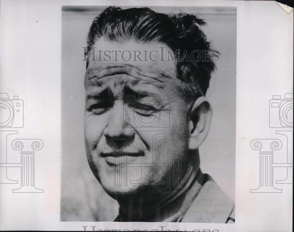
[{"label": "man's closed mouth with thin upper lip, slightly smirking", "polygon": [[118,166],[118,165],[125,165],[127,163],[131,163],[134,160],[141,158],[144,156],[145,153],[144,151],[139,151],[139,152],[113,152],[113,153],[101,153],[100,156],[103,157],[106,161],[106,163],[113,167],[113,166]]}]

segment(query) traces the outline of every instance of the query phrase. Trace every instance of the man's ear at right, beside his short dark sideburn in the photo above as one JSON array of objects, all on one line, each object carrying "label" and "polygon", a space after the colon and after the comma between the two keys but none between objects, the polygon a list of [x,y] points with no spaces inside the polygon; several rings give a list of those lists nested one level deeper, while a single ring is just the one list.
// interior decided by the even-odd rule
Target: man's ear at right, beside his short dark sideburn
[{"label": "man's ear at right, beside his short dark sideburn", "polygon": [[190,149],[197,149],[208,134],[212,109],[206,97],[199,97],[190,111]]}]

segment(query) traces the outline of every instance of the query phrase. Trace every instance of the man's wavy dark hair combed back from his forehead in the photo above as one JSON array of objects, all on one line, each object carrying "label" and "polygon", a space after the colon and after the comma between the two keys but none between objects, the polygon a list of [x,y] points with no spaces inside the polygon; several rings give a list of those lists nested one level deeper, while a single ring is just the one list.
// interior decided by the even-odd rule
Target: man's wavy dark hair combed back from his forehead
[{"label": "man's wavy dark hair combed back from his forehead", "polygon": [[[179,56],[184,51],[191,54],[193,50],[211,50],[206,35],[199,28],[205,24],[197,16],[186,13],[167,15],[146,7],[121,9],[110,6],[93,20],[85,54],[102,36],[120,42],[130,39],[162,42],[173,51],[177,50]],[[190,87],[193,85],[198,96],[205,95],[214,69],[213,61],[177,61],[177,78]]]}]

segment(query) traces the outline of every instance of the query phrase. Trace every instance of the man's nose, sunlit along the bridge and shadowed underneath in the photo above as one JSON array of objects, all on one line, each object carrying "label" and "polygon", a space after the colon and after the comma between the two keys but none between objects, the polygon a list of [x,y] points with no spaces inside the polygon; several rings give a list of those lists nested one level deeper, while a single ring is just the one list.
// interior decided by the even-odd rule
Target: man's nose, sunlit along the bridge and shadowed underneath
[{"label": "man's nose, sunlit along the bridge and shadowed underneath", "polygon": [[108,125],[104,130],[104,136],[109,138],[134,138],[134,134],[130,133],[130,128],[126,128],[125,125],[129,119],[126,118],[126,114],[123,114],[123,101],[114,101],[113,107],[109,114]]}]

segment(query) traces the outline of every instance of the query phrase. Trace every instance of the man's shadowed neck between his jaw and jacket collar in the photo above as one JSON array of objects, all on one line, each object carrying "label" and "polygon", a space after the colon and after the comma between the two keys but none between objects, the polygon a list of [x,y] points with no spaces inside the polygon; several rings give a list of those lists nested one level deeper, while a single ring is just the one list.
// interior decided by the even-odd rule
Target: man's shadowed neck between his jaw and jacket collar
[{"label": "man's shadowed neck between his jaw and jacket collar", "polygon": [[120,221],[177,221],[188,210],[203,184],[199,163],[188,162],[180,184],[172,190],[163,190],[156,197],[118,201]]}]

